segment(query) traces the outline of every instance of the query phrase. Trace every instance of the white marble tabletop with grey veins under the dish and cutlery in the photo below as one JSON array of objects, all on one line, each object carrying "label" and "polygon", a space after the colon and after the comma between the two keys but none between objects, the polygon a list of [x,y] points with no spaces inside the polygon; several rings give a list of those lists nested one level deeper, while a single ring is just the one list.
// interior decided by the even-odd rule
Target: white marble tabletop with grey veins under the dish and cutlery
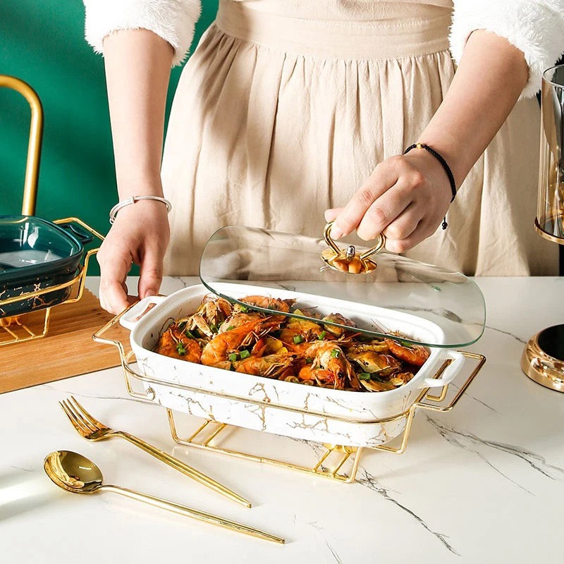
[{"label": "white marble tabletop with grey veins under the dish and cutlery", "polygon": [[[486,355],[485,367],[452,412],[415,417],[405,453],[364,454],[357,484],[178,446],[166,412],[128,397],[117,368],[1,395],[0,562],[563,562],[564,395],[527,379],[519,362],[533,333],[563,321],[564,278],[477,282],[487,329],[470,350]],[[169,278],[163,291],[185,283]],[[224,500],[125,441],[81,439],[57,405],[71,393],[102,421],[214,474],[255,508]],[[272,445],[269,435],[243,432],[255,448]],[[309,449],[279,440],[288,455]],[[110,483],[268,529],[288,543],[115,494],[66,494],[42,470],[44,456],[58,449],[89,456]]]}]

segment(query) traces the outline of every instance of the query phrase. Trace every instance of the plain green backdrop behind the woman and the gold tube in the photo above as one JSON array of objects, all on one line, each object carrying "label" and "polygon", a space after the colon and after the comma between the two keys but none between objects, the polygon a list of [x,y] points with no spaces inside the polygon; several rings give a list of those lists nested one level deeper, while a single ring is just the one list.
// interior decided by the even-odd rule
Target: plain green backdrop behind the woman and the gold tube
[{"label": "plain green backdrop behind the woman and the gold tube", "polygon": [[[214,20],[217,0],[202,1],[192,48]],[[116,203],[116,178],[104,61],[84,39],[80,0],[0,2],[0,74],[39,94],[44,133],[37,216],[77,216],[102,233]],[[168,89],[170,110],[180,68]],[[19,214],[30,110],[20,94],[0,88],[0,214]],[[89,274],[98,274],[94,262]]]}]

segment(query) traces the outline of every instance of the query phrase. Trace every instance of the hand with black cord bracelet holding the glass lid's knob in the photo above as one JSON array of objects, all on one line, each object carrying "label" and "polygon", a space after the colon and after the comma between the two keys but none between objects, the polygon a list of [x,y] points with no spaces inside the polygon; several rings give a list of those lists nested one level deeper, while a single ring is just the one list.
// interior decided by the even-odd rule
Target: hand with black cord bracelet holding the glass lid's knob
[{"label": "hand with black cord bracelet holding the glass lid's knob", "polygon": [[443,167],[424,149],[389,157],[344,208],[328,209],[331,236],[355,229],[364,240],[386,235],[386,249],[405,252],[432,235],[446,214],[452,192]]}]

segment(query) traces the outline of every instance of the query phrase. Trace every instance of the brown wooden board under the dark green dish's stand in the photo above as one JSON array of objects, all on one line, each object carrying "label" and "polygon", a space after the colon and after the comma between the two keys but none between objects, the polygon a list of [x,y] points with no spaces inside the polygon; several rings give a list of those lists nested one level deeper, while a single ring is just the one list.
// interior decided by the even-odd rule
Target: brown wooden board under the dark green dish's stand
[{"label": "brown wooden board under the dark green dish's stand", "polygon": [[[78,302],[53,307],[47,336],[0,347],[0,393],[118,366],[116,347],[92,341],[112,317],[87,289]],[[25,324],[40,334],[43,319],[44,312],[28,314]],[[115,326],[107,336],[128,350],[128,330]]]}]

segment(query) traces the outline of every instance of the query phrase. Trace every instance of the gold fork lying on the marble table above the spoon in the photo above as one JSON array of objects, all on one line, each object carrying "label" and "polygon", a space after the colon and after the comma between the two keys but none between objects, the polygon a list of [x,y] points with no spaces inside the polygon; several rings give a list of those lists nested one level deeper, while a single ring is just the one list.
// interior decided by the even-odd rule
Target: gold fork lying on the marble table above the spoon
[{"label": "gold fork lying on the marble table above the spoon", "polygon": [[133,443],[135,446],[142,448],[145,450],[146,453],[153,455],[154,458],[158,458],[168,466],[173,467],[178,472],[183,472],[188,477],[195,479],[196,482],[200,482],[204,486],[208,486],[209,488],[213,489],[214,491],[219,492],[223,496],[226,496],[241,505],[245,505],[245,507],[251,507],[250,501],[246,500],[239,494],[235,494],[234,491],[231,491],[223,484],[216,482],[213,478],[206,476],[206,474],[202,474],[200,470],[196,470],[192,468],[182,460],[178,460],[178,458],[174,458],[173,456],[164,453],[159,448],[149,445],[149,443],[145,443],[141,439],[138,439],[136,436],[132,434],[126,433],[125,431],[115,431],[110,427],[107,427],[103,423],[100,423],[98,419],[94,419],[92,415],[90,415],[87,410],[85,410],[80,403],[78,403],[73,396],[71,396],[70,400],[63,400],[59,402],[59,405],[63,408],[63,411],[66,413],[66,416],[73,424],[73,427],[78,431],[78,434],[83,436],[88,441],[102,441],[103,439],[109,439],[112,436],[119,436],[130,443]]}]

